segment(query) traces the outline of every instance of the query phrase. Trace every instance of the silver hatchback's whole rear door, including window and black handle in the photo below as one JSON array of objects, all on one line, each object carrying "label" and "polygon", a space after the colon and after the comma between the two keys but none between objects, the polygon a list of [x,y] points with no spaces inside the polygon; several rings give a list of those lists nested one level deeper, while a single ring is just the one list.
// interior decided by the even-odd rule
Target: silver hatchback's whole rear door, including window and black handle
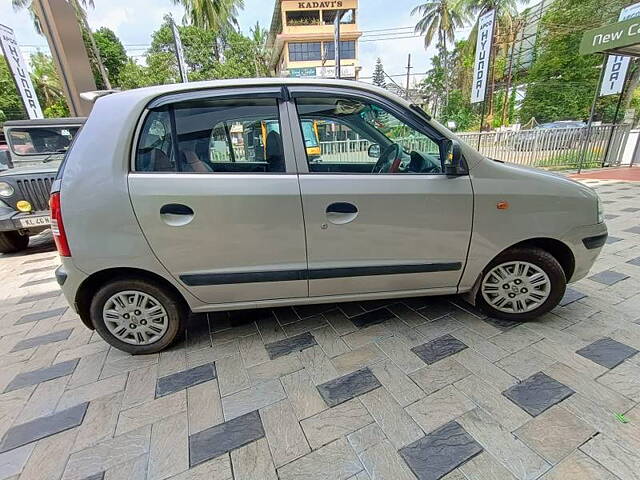
[{"label": "silver hatchback's whole rear door, including window and black handle", "polygon": [[292,140],[288,130],[279,133],[280,92],[162,99],[138,134],[129,174],[136,216],[158,259],[204,302],[308,295]]}]

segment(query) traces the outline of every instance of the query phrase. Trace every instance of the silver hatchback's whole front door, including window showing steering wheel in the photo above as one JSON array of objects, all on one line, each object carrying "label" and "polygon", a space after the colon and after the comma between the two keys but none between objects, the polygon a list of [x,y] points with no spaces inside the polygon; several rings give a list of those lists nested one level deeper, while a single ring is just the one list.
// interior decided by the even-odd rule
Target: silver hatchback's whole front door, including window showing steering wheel
[{"label": "silver hatchback's whole front door, including window showing steering wheel", "polygon": [[455,288],[473,195],[443,174],[446,139],[382,99],[292,91],[321,146],[299,164],[310,295]]}]

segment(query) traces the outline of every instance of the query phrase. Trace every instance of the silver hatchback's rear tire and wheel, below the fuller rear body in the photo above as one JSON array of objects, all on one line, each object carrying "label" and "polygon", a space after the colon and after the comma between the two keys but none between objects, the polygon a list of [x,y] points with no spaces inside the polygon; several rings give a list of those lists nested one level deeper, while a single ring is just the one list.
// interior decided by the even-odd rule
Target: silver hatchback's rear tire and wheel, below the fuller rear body
[{"label": "silver hatchback's rear tire and wheel, below the fuller rear body", "polygon": [[[130,311],[131,313],[127,313],[126,315],[129,315],[129,320],[125,321],[121,315],[118,315],[117,319],[116,317],[113,317],[113,322],[105,320],[103,310],[107,303],[109,306],[113,306],[114,303],[112,302],[116,295],[120,294],[131,299],[135,293],[144,294],[147,298],[151,299],[149,302],[145,303],[144,307],[142,307],[143,309],[139,310],[141,312],[140,315],[137,317],[134,316],[134,313],[138,310],[134,310],[134,305],[128,304],[126,311]],[[122,297],[120,298],[122,299]],[[139,295],[138,298],[141,298],[141,295]],[[162,309],[164,309],[166,316],[161,315],[161,319],[163,321],[162,325],[160,323],[156,323],[156,321],[161,321],[160,318],[153,322],[151,320],[146,320],[148,317],[145,315],[145,312],[152,311],[152,308],[154,309],[153,311],[158,311],[157,307],[153,305],[160,305]],[[145,307],[147,307],[146,310],[144,310]],[[110,310],[113,312],[113,309]],[[124,311],[125,310],[121,308],[121,312]],[[142,279],[118,279],[105,284],[96,292],[91,300],[89,312],[93,326],[107,343],[116,347],[118,350],[131,353],[132,355],[144,355],[157,353],[173,343],[176,337],[182,332],[187,309],[183,305],[181,299],[176,298],[173,292],[163,286],[159,286],[148,280]],[[157,316],[158,315],[154,315],[154,318]],[[135,322],[135,330],[125,326],[124,324],[127,322]],[[129,325],[132,324],[133,323],[129,323]],[[122,331],[122,329],[124,329],[127,333],[122,336],[117,336],[110,328],[116,331]],[[139,335],[143,335],[144,332],[148,335],[149,332],[152,332],[150,330],[152,328],[156,331],[162,331],[155,335],[157,338],[153,339],[152,337],[153,341],[149,341],[148,338],[145,338],[149,343],[136,342],[136,338],[138,338]],[[143,336],[146,337],[146,335]]]}]

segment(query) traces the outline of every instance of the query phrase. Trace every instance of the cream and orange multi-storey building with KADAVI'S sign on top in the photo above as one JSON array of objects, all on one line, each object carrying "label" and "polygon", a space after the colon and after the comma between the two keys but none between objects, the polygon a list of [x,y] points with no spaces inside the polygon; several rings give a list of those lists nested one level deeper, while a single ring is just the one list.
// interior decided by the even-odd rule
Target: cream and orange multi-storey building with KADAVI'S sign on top
[{"label": "cream and orange multi-storey building with KADAVI'S sign on top", "polygon": [[334,22],[341,15],[341,77],[357,79],[358,0],[276,0],[269,31],[271,67],[278,76],[334,77]]}]

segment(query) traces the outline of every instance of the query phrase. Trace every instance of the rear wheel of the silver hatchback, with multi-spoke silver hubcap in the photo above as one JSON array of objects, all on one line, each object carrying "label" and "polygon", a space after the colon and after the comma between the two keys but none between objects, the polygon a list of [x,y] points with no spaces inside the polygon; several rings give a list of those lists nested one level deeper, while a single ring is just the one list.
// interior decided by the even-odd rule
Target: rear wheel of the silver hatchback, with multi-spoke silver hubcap
[{"label": "rear wheel of the silver hatchback, with multi-spoke silver hubcap", "polygon": [[139,355],[173,343],[182,330],[185,308],[172,292],[147,280],[116,280],[96,292],[90,312],[107,343]]}]

